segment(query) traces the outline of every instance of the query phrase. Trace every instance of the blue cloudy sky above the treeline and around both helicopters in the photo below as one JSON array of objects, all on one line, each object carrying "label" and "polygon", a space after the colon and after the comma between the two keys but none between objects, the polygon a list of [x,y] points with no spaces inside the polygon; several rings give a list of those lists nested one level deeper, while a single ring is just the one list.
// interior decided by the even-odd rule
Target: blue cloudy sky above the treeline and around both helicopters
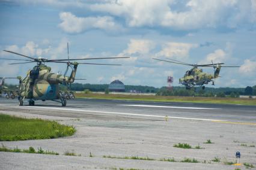
[{"label": "blue cloudy sky above the treeline and around both helicopters", "polygon": [[[79,65],[76,83],[162,87],[167,77],[183,77],[186,63],[218,63],[222,68],[215,86],[256,85],[256,0],[0,0],[0,58],[130,57],[93,60],[121,66]],[[15,62],[15,61],[14,61]],[[87,60],[89,62],[89,60]],[[0,77],[25,77],[34,63],[8,65],[0,61]],[[64,74],[66,65],[48,63]],[[203,68],[213,73],[213,68]],[[8,80],[7,83],[15,83]]]}]

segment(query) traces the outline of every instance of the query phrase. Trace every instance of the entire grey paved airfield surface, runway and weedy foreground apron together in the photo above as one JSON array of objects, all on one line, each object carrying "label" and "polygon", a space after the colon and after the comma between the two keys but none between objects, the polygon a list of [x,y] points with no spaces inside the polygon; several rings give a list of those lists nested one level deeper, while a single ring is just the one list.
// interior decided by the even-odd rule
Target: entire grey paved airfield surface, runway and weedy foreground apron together
[{"label": "entire grey paved airfield surface, runway and weedy foreground apron together", "polygon": [[[67,101],[67,107],[52,101],[20,107],[17,99],[0,98],[0,113],[56,120],[77,129],[67,138],[1,144],[82,154],[1,152],[0,169],[234,169],[236,166],[225,162],[235,162],[236,151],[242,153],[242,162],[256,165],[256,106],[76,99]],[[214,144],[204,144],[207,139]],[[178,142],[202,149],[173,147]],[[90,152],[94,157],[88,156]],[[103,158],[106,155],[156,160],[174,157],[179,162]],[[185,157],[200,163],[181,163]],[[215,157],[221,161],[214,162]]]}]

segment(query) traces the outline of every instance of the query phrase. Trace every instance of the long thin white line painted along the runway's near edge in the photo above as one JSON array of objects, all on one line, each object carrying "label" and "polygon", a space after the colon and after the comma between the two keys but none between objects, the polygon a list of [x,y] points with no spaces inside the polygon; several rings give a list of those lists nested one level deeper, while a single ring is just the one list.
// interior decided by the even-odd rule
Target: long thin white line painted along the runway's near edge
[{"label": "long thin white line painted along the runway's near edge", "polygon": [[[53,110],[80,111],[80,112],[90,112],[90,113],[121,114],[121,115],[128,115],[128,116],[145,116],[145,117],[161,117],[161,118],[165,118],[165,116],[151,115],[151,114],[118,113],[118,112],[111,112],[111,111],[77,110],[77,109],[70,109],[70,108],[37,107],[37,106],[24,106],[24,107],[46,108],[46,109],[53,109]],[[170,118],[170,119],[186,119],[186,120],[219,121],[219,122],[227,121],[227,120],[200,119],[200,118],[173,117],[173,116],[168,116],[168,118]]]}]

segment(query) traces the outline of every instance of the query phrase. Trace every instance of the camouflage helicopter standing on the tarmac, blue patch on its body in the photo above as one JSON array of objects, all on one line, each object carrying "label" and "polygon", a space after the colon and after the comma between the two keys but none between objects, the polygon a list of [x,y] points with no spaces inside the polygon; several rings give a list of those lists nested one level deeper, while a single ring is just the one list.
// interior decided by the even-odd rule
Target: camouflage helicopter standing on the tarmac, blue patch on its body
[{"label": "camouflage helicopter standing on the tarmac, blue patch on its body", "polygon": [[[76,70],[79,64],[88,65],[118,65],[118,64],[104,64],[104,63],[84,63],[76,62],[75,60],[97,60],[97,59],[121,59],[129,57],[98,57],[98,58],[83,58],[83,59],[70,59],[69,58],[69,44],[68,49],[68,59],[47,59],[47,58],[33,58],[23,54],[19,54],[13,51],[7,51],[8,53],[17,54],[19,56],[26,57],[26,59],[3,59],[3,60],[22,60],[19,63],[9,63],[9,65],[24,64],[24,63],[37,63],[32,70],[26,73],[25,78],[20,78],[19,87],[17,89],[17,96],[19,99],[19,105],[23,105],[23,101],[28,99],[29,105],[34,106],[35,101],[41,100],[51,100],[61,103],[63,107],[67,104],[67,99],[75,99],[74,92],[71,91],[70,86],[73,83],[76,76]],[[0,58],[1,59],[1,58]],[[74,61],[74,62],[70,62]],[[44,63],[66,63],[67,68],[64,75],[55,74],[51,72],[49,66],[44,65]],[[66,76],[69,68],[72,70],[70,76]],[[68,91],[62,92],[59,90],[59,84],[67,86]]]}]

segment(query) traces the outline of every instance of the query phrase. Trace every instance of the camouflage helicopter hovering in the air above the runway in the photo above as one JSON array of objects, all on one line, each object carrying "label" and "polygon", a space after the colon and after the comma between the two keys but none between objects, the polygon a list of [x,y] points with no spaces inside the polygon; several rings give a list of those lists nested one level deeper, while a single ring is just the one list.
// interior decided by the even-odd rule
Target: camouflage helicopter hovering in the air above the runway
[{"label": "camouflage helicopter hovering in the air above the runway", "polygon": [[[174,60],[169,58],[167,58],[168,60],[155,59],[155,58],[153,59],[160,60],[163,62],[176,63],[179,65],[193,66],[192,69],[186,71],[186,73],[184,74],[184,77],[181,77],[179,79],[179,84],[182,84],[183,86],[185,86],[187,90],[191,89],[194,86],[200,86],[204,90],[206,88],[204,84],[209,84],[210,82],[212,82],[212,85],[215,85],[214,79],[220,77],[219,72],[221,71],[222,67],[240,67],[240,66],[222,66],[225,63],[213,63],[213,61],[210,64],[198,65],[198,64],[185,63],[179,60]],[[198,67],[213,67],[213,74],[203,72],[203,69],[200,69]]]}]

